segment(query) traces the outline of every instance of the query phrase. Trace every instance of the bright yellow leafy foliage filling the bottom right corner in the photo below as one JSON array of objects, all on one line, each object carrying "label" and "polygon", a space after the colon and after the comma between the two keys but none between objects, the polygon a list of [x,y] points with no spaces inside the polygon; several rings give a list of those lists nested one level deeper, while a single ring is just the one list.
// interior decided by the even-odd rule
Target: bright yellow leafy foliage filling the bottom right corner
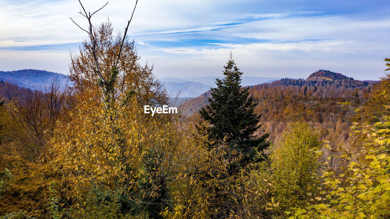
[{"label": "bright yellow leafy foliage filling the bottom right corner", "polygon": [[352,148],[341,155],[347,168],[340,175],[323,171],[323,203],[298,218],[389,218],[389,124],[389,116],[373,125],[353,124]]}]

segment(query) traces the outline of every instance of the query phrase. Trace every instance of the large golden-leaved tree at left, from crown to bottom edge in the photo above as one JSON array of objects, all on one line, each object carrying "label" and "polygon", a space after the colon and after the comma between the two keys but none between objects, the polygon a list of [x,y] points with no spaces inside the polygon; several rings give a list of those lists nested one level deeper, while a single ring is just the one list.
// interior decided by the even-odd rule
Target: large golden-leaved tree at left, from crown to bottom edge
[{"label": "large golden-leaved tree at left, from crown to bottom edge", "polygon": [[89,40],[71,57],[69,120],[58,124],[52,141],[57,185],[67,191],[75,215],[100,215],[110,207],[105,202],[123,215],[170,215],[171,188],[178,176],[189,176],[179,165],[196,154],[184,147],[199,146],[183,137],[192,134],[183,134],[189,124],[179,115],[143,113],[143,105],[167,105],[165,89],[152,66],[138,63],[134,41],[114,35],[109,21],[93,27],[93,14],[83,14]]}]

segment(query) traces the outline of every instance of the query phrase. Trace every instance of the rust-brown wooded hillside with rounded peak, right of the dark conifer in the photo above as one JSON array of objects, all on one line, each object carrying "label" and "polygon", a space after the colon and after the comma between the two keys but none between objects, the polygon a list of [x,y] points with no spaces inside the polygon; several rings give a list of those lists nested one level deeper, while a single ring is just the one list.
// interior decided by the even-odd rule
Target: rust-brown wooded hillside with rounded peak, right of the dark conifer
[{"label": "rust-brown wooded hillside with rounded peak, right of the dark conifer", "polygon": [[[339,138],[346,142],[348,136],[344,123],[353,109],[365,101],[371,89],[369,81],[354,80],[339,73],[319,70],[307,79],[284,78],[271,83],[250,86],[257,103],[256,113],[262,114],[262,130],[258,134],[271,132],[270,140],[277,143],[287,122],[297,118],[316,121],[328,138]],[[208,103],[209,92],[182,104],[184,113],[194,117]],[[339,102],[351,102],[348,109]],[[329,132],[332,128],[333,131]]]}]

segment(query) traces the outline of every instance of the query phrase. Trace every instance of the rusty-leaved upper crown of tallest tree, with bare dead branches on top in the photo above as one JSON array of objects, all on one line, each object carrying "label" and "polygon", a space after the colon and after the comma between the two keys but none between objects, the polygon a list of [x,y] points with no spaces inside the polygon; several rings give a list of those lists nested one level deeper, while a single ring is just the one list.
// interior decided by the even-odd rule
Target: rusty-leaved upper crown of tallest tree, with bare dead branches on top
[{"label": "rusty-leaved upper crown of tallest tree, with bare dead branches on top", "polygon": [[[138,63],[140,57],[134,41],[129,41],[126,35],[135,7],[124,34],[119,32],[115,35],[109,20],[97,27],[91,23],[92,15],[107,4],[94,13],[87,13],[81,2],[80,5],[83,9],[80,14],[88,20],[88,30],[72,21],[87,32],[89,40],[82,42],[79,54],[71,54],[69,79],[73,82],[73,96],[78,95],[75,101],[92,97],[99,99],[106,109],[126,104],[132,95],[137,94],[140,94],[138,102],[153,104],[167,101],[166,95],[162,95],[165,92],[163,86],[152,74],[153,66]],[[94,93],[96,90],[97,93]]]}]

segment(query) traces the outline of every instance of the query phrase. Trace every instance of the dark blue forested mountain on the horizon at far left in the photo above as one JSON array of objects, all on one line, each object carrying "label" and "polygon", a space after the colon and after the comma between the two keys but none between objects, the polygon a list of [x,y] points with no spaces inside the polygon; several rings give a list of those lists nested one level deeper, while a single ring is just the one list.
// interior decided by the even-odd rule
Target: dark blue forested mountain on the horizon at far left
[{"label": "dark blue forested mountain on the horizon at far left", "polygon": [[57,79],[58,83],[65,86],[67,83],[66,75],[50,71],[23,69],[18,71],[0,71],[0,80],[9,81],[20,87],[27,87],[42,90],[40,87],[46,83],[51,83]]}]

